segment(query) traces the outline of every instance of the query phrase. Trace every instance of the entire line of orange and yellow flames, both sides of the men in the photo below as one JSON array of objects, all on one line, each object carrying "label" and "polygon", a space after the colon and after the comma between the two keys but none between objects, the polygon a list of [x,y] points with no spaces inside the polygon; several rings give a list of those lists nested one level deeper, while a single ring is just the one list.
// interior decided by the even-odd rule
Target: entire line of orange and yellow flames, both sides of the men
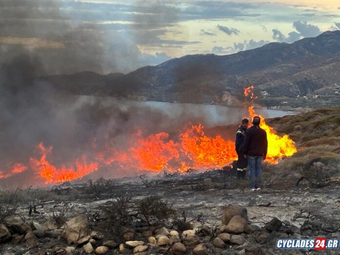
[{"label": "entire line of orange and yellow flames, both sides of the men", "polygon": [[[251,104],[257,98],[253,89],[252,85],[244,90],[246,101],[250,99]],[[253,106],[249,106],[248,111],[251,119],[257,115]],[[261,127],[267,132],[266,161],[276,164],[279,159],[293,155],[297,149],[288,135],[282,137],[277,135],[275,130],[266,124],[263,116],[258,116],[261,118]],[[86,150],[86,155],[80,155],[73,162],[58,165],[54,162],[52,146],[45,147],[41,142],[37,145],[38,152],[26,165],[12,164],[10,171],[0,170],[0,178],[31,169],[36,173],[36,178],[42,179],[45,184],[51,184],[79,179],[100,168],[112,171],[123,169],[155,172],[209,170],[219,169],[237,159],[234,141],[225,140],[220,135],[208,136],[200,124],[188,124],[171,138],[166,132],[143,135],[143,130],[137,129],[124,143],[115,144],[114,141],[107,139],[104,146],[99,146],[93,139],[91,149]]]}]

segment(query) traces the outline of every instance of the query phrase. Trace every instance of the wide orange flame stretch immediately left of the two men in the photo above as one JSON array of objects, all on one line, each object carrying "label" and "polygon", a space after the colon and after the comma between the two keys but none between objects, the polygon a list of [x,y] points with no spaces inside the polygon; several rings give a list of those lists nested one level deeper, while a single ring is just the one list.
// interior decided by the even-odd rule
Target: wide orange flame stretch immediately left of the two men
[{"label": "wide orange flame stretch immediately left of the two men", "polygon": [[232,141],[221,136],[206,136],[201,125],[186,127],[179,133],[178,141],[169,140],[169,134],[165,132],[150,134],[146,138],[139,137],[125,152],[115,149],[110,149],[108,155],[100,152],[98,159],[105,163],[115,161],[123,168],[137,170],[185,171],[222,167],[237,157]]}]

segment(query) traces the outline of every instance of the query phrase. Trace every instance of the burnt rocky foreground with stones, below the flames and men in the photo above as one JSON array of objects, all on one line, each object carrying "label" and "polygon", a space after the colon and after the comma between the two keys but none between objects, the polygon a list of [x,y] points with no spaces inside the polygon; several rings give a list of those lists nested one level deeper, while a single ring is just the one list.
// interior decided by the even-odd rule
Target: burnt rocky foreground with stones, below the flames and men
[{"label": "burnt rocky foreground with stones, below the flames and men", "polygon": [[[247,191],[226,168],[106,181],[104,190],[67,183],[41,190],[44,199],[21,201],[2,219],[0,254],[338,254],[275,250],[276,238],[340,238],[339,184],[284,182],[264,180],[263,189]],[[176,216],[149,224],[136,218],[109,235],[116,222],[107,220],[107,208],[122,193],[136,199],[132,205],[158,195]]]}]

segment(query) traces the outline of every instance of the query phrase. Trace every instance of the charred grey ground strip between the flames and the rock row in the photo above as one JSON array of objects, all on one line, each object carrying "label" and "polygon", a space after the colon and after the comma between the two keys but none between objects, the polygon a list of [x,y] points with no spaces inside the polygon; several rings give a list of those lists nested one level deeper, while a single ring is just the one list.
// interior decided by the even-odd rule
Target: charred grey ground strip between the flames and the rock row
[{"label": "charred grey ground strip between the flames and the rock row", "polygon": [[[52,200],[43,203],[35,201],[33,204],[38,206],[35,208],[36,212],[32,212],[31,215],[28,215],[27,204],[23,204],[18,213],[26,222],[36,221],[41,224],[47,218],[53,218],[54,214],[61,212],[66,218],[84,212],[90,218],[96,212],[100,215],[101,210],[114,199],[117,193],[126,192],[135,198],[158,195],[172,204],[181,215],[185,212],[188,221],[200,218],[202,222],[218,226],[221,224],[223,208],[233,204],[246,207],[249,221],[259,227],[263,227],[265,223],[276,217],[283,222],[283,225],[294,224],[300,227],[301,236],[304,238],[324,236],[340,238],[340,185],[336,182],[322,188],[312,187],[304,181],[296,186],[296,179],[276,184],[264,182],[264,188],[260,191],[247,191],[246,182],[238,181],[233,170],[211,170],[172,176],[157,175],[149,178],[142,176],[142,178],[136,176],[115,180],[110,191],[100,194],[100,197],[91,194],[88,184],[67,183],[52,189],[52,192],[62,195],[64,201]],[[51,242],[51,239],[41,240],[38,247],[52,251],[56,245],[63,245],[63,243],[60,240],[55,242]],[[290,254],[289,250],[282,252],[275,250],[274,237],[262,246],[267,249],[268,254]],[[20,244],[7,243],[2,244],[2,247],[0,244],[0,254],[30,254],[30,251],[32,248]],[[320,252],[307,250],[301,252],[320,254]],[[328,250],[324,254],[338,254],[337,252],[339,251]]]}]

